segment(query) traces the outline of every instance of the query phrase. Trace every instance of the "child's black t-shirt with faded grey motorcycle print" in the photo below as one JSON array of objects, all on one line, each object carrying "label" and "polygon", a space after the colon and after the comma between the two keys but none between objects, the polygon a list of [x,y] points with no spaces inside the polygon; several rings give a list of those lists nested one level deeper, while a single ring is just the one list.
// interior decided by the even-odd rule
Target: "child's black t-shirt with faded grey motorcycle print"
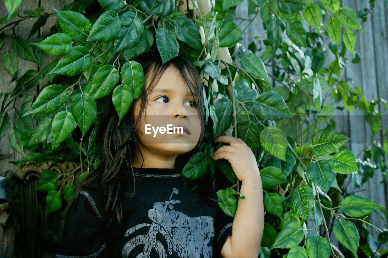
[{"label": "child's black t-shirt with faded grey motorcycle print", "polygon": [[[104,213],[102,191],[85,187],[77,209],[72,205],[66,215],[55,257],[220,257],[234,218],[203,191],[192,191],[178,169],[137,171],[135,195],[123,204],[122,227],[115,215]],[[225,185],[207,182],[207,195],[217,200],[216,189]]]}]

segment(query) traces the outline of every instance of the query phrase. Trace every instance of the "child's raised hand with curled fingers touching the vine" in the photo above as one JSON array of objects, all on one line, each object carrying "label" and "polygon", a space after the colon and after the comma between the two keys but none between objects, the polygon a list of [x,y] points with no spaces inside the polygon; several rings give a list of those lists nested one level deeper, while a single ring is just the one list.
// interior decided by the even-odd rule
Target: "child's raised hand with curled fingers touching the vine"
[{"label": "child's raised hand with curled fingers touching the vine", "polygon": [[228,160],[232,165],[234,174],[240,181],[260,176],[255,155],[242,139],[232,136],[219,136],[216,141],[229,143],[230,145],[218,148],[213,154],[213,159],[225,158]]}]

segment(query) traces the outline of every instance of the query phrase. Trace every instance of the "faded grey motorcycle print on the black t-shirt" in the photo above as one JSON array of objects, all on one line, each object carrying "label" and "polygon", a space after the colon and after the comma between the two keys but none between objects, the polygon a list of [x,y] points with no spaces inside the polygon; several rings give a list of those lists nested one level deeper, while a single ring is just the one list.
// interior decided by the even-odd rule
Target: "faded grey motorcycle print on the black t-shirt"
[{"label": "faded grey motorcycle print on the black t-shirt", "polygon": [[[210,216],[191,218],[182,212],[175,211],[173,204],[180,203],[180,201],[171,200],[171,197],[178,193],[178,189],[173,188],[168,201],[154,203],[154,207],[148,210],[151,223],[135,225],[125,232],[124,236],[129,237],[136,230],[149,227],[147,235],[134,236],[124,245],[123,258],[128,258],[130,252],[140,244],[144,244],[144,248],[142,253],[137,254],[137,258],[150,257],[152,249],[163,258],[172,255],[173,251],[181,257],[212,256],[213,247],[210,241],[213,241],[211,238],[214,237],[214,218]],[[158,232],[164,236],[168,245],[167,250],[156,238]],[[198,245],[198,243],[203,244]]]}]

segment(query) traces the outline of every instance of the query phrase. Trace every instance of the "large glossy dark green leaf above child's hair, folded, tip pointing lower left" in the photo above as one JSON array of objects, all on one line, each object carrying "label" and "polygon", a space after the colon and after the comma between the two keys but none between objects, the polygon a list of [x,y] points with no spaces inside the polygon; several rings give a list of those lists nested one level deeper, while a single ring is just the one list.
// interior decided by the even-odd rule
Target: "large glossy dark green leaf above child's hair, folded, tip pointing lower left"
[{"label": "large glossy dark green leaf above child's hair, folded, tip pointing lower left", "polygon": [[121,28],[114,40],[114,52],[135,47],[144,36],[142,20],[133,12],[127,11],[120,15]]}]

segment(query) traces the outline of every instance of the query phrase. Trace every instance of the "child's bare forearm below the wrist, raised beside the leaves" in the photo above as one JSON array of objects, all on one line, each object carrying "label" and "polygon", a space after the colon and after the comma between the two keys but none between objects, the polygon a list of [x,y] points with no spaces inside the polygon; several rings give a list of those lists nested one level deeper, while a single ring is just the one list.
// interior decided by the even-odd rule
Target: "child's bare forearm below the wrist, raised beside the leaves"
[{"label": "child's bare forearm below the wrist, raised beside the leaves", "polygon": [[258,257],[264,227],[263,188],[260,173],[241,182],[236,215],[232,224],[233,257]]}]

